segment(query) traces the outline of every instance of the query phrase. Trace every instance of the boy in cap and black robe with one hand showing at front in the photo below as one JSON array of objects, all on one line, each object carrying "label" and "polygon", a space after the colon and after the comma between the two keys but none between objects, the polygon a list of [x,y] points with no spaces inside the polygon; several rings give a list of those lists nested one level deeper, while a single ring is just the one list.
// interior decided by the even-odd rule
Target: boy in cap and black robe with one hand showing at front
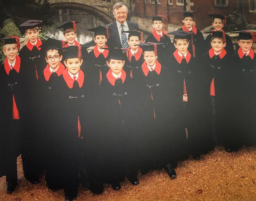
[{"label": "boy in cap and black robe with one hand showing at front", "polygon": [[[206,107],[209,96],[206,96],[203,91],[204,71],[197,68],[193,56],[188,51],[192,33],[178,30],[169,34],[175,36],[174,45],[177,48],[169,60],[171,85],[178,94],[176,103],[180,111],[183,108],[183,131],[186,128],[188,132],[188,148],[193,158],[200,159],[204,151],[204,143],[209,135],[207,115],[210,115]],[[182,148],[179,158],[183,159],[187,157],[187,139],[184,132],[182,136],[179,136],[179,140]]]}]

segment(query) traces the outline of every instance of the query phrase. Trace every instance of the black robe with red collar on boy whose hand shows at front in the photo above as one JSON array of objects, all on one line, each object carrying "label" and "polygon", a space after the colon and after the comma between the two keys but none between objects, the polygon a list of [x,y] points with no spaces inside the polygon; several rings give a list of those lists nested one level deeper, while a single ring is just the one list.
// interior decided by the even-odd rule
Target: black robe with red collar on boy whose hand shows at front
[{"label": "black robe with red collar on boy whose hand shows at front", "polygon": [[[207,149],[210,136],[210,107],[209,96],[204,89],[205,83],[203,78],[205,72],[199,69],[199,65],[194,60],[193,56],[187,52],[186,58],[181,59],[177,55],[177,51],[171,55],[169,63],[169,70],[171,72],[171,85],[174,87],[175,94],[177,95],[178,108],[180,111],[180,119],[183,127],[183,133],[178,136],[180,158],[188,157],[188,151],[193,156],[202,154]],[[176,56],[175,56],[176,55]],[[180,63],[176,59],[180,58]],[[190,59],[189,59],[190,58]],[[184,89],[184,80],[186,90]],[[186,91],[186,92],[185,92]],[[187,93],[188,102],[183,102],[183,94]],[[186,137],[185,128],[188,131]]]}]

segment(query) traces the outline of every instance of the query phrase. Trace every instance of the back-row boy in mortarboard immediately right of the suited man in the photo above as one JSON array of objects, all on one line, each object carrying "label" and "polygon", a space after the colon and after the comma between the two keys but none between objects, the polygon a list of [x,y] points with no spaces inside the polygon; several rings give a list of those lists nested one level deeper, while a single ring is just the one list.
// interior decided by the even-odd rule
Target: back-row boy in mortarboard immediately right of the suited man
[{"label": "back-row boy in mortarboard immediately right of the suited man", "polygon": [[[164,18],[164,19],[163,19]],[[174,51],[174,47],[171,43],[171,39],[168,34],[163,30],[165,16],[153,16],[152,27],[153,31],[145,40],[145,42],[151,43],[164,43],[164,46],[158,48],[159,58],[158,61],[162,64],[166,61],[166,58]]]}]

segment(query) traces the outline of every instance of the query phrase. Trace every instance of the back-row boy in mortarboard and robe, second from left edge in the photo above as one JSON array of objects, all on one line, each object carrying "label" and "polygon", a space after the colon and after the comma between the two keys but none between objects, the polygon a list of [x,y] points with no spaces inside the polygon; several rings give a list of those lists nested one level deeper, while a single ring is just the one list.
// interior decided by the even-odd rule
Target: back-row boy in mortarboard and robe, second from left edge
[{"label": "back-row boy in mortarboard and robe, second from left edge", "polygon": [[38,69],[38,59],[40,55],[41,40],[38,38],[39,27],[42,27],[42,21],[27,20],[19,26],[22,34],[26,34],[28,38],[27,44],[20,50],[22,76],[26,77],[22,80],[23,98],[26,103],[26,115],[24,116],[26,135],[22,137],[22,164],[24,176],[32,184],[38,183],[38,173],[41,171],[37,156],[38,138],[36,134],[37,111],[39,105],[36,98],[39,93],[37,81],[40,75]]}]

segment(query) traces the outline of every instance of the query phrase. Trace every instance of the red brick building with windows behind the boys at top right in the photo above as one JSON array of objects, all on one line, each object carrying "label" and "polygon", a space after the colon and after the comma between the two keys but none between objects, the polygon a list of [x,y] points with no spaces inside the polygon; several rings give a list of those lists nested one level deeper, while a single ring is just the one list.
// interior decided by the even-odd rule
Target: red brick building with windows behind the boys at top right
[{"label": "red brick building with windows behind the boys at top right", "polygon": [[[212,24],[208,13],[219,13],[225,16],[241,11],[250,24],[256,24],[256,0],[132,0],[133,16],[148,18],[147,16],[168,16],[168,23],[173,26],[182,25],[182,13],[177,11],[192,10],[195,14],[196,25],[204,29]],[[170,25],[169,25],[170,26]]]}]

